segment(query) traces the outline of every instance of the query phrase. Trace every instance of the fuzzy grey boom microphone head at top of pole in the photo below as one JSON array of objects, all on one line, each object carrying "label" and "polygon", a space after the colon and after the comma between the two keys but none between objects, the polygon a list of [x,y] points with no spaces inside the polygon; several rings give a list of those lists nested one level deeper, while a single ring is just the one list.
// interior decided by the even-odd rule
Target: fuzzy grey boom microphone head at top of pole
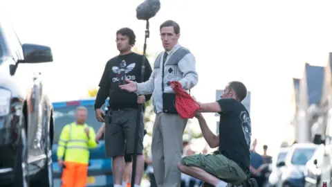
[{"label": "fuzzy grey boom microphone head at top of pole", "polygon": [[136,8],[136,17],[141,20],[149,20],[160,10],[159,0],[145,0]]}]

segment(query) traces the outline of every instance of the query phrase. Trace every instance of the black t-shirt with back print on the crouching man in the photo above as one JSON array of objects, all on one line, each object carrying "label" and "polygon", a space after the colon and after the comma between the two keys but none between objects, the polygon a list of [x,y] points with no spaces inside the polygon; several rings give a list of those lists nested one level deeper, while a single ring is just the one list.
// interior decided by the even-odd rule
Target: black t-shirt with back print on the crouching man
[{"label": "black t-shirt with back print on the crouching man", "polygon": [[221,98],[217,103],[222,111],[219,113],[219,152],[246,172],[250,167],[249,112],[242,103],[232,98]]}]

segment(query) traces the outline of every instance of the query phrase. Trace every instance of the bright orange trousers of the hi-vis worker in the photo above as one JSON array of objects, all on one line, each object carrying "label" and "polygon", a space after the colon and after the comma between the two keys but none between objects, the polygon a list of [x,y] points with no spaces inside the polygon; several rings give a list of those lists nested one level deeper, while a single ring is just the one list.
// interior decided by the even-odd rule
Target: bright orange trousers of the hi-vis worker
[{"label": "bright orange trousers of the hi-vis worker", "polygon": [[88,164],[65,161],[61,187],[85,187],[88,177]]}]

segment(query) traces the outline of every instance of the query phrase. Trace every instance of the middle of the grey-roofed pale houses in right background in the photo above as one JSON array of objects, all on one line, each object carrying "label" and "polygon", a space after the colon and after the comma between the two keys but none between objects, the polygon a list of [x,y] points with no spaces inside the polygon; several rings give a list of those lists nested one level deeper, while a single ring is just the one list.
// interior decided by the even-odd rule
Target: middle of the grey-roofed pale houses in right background
[{"label": "middle of the grey-roofed pale houses in right background", "polygon": [[320,117],[323,82],[324,67],[311,66],[306,63],[303,78],[299,80],[299,105],[295,123],[295,140],[298,143],[312,141],[315,134],[315,132],[311,132],[312,127],[317,126],[314,124],[322,123],[318,119]]}]

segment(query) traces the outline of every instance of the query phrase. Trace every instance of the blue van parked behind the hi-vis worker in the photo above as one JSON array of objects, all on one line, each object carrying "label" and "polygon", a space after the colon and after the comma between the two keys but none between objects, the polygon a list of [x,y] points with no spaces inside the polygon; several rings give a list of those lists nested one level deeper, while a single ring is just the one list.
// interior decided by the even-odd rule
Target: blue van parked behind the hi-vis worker
[{"label": "blue van parked behind the hi-vis worker", "polygon": [[[89,100],[73,100],[65,102],[53,103],[55,118],[54,125],[54,140],[52,149],[53,160],[53,178],[54,186],[61,186],[62,168],[57,163],[57,142],[64,125],[75,121],[75,111],[78,106],[84,106],[88,109],[88,117],[86,118],[86,124],[93,127],[95,133],[98,132],[102,123],[98,122],[95,118],[94,109],[95,99]],[[113,186],[113,175],[111,168],[111,159],[105,157],[105,144],[104,141],[100,141],[99,145],[95,149],[90,150],[89,171],[86,187],[101,187],[101,186]]]}]

